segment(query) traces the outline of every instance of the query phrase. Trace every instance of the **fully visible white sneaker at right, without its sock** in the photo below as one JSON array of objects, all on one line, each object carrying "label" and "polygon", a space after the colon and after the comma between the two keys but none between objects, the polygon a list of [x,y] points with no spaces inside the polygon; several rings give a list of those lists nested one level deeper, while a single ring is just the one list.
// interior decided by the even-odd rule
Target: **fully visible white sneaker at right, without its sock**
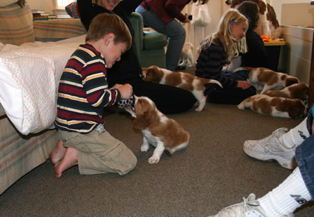
[{"label": "fully visible white sneaker at right, without its sock", "polygon": [[297,166],[294,160],[295,150],[288,149],[278,140],[287,131],[287,128],[279,128],[271,136],[267,136],[261,140],[246,140],[243,150],[248,156],[255,159],[262,161],[275,160],[282,167],[293,170]]}]

